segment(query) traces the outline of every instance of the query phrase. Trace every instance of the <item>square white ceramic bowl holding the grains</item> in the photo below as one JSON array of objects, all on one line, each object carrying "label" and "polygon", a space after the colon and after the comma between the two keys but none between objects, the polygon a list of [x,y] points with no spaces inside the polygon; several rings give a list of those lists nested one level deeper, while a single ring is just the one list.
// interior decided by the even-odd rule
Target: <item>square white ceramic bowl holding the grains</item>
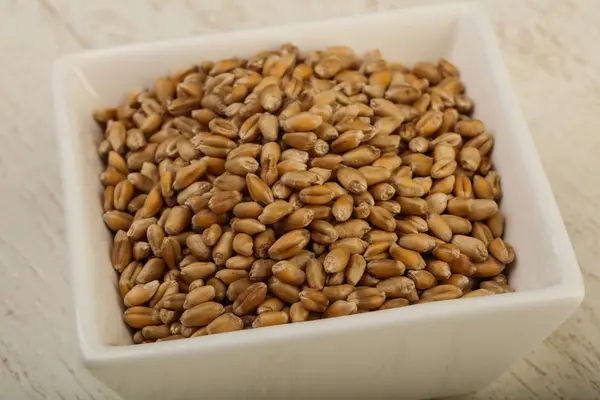
[{"label": "square white ceramic bowl holding the grains", "polygon": [[[496,136],[516,293],[333,320],[130,346],[110,235],[102,222],[95,107],[202,60],[250,56],[290,41],[346,44],[389,60],[452,60],[476,117]],[[86,366],[128,398],[429,398],[475,391],[557,328],[583,285],[552,192],[519,112],[489,22],[444,5],[93,51],[59,60],[54,100],[79,347]]]}]

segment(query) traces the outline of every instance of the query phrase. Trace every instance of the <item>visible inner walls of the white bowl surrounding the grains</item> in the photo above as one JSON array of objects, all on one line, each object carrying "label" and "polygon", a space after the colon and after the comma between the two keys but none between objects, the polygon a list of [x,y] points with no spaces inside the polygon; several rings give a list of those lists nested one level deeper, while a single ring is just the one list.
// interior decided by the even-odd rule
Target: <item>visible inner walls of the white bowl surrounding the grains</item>
[{"label": "visible inner walls of the white bowl surrounding the grains", "polygon": [[[321,49],[330,45],[349,45],[357,52],[379,48],[395,62],[412,65],[420,60],[435,61],[446,57],[461,70],[468,94],[475,100],[476,117],[481,118],[496,136],[494,161],[502,174],[504,198],[501,209],[507,217],[506,238],[516,251],[519,267],[511,274],[511,284],[519,291],[548,286],[558,279],[557,271],[545,268],[552,254],[544,238],[543,219],[536,208],[536,196],[528,184],[527,155],[519,149],[518,136],[511,116],[495,95],[497,83],[491,74],[477,32],[460,8],[444,15],[427,9],[407,10],[387,16],[373,15],[359,20],[340,19],[326,23],[268,28],[245,33],[230,32],[216,37],[183,39],[172,43],[147,44],[96,52],[73,61],[66,79],[69,120],[75,132],[72,138],[80,169],[79,182],[86,208],[77,235],[86,265],[78,266],[81,279],[89,279],[89,288],[78,293],[82,304],[80,328],[94,345],[131,343],[130,333],[121,320],[123,311],[117,289],[117,275],[111,267],[111,236],[102,221],[102,187],[98,180],[102,165],[96,152],[101,132],[91,118],[96,107],[122,102],[136,88],[149,87],[157,76],[203,60],[232,56],[250,57],[258,50],[276,48],[289,41],[301,50]],[[78,285],[74,282],[74,285]],[[82,310],[89,312],[83,316]],[[402,312],[399,310],[398,312]]]}]

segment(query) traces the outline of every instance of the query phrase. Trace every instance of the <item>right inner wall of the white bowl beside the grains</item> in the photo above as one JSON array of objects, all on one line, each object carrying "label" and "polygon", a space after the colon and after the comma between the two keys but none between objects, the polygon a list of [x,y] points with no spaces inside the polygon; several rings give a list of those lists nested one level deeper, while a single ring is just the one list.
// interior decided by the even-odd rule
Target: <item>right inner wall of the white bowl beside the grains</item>
[{"label": "right inner wall of the white bowl beside the grains", "polygon": [[522,141],[528,132],[520,124],[522,116],[518,104],[508,104],[500,83],[494,79],[495,65],[486,52],[476,23],[465,18],[457,25],[450,52],[465,83],[469,96],[475,101],[475,117],[481,119],[494,135],[492,160],[501,176],[503,197],[500,209],[506,217],[505,239],[515,249],[517,262],[511,268],[509,281],[518,291],[539,289],[558,283],[560,271],[551,269],[555,252],[542,208],[552,202],[544,199],[534,181],[531,154]]}]

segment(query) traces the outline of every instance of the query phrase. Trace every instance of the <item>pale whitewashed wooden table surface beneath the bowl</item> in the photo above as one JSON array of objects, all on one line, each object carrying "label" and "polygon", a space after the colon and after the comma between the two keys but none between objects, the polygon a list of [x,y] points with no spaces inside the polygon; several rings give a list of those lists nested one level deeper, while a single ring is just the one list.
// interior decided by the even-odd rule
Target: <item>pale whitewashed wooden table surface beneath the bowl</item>
[{"label": "pale whitewashed wooden table surface beneath the bowl", "polygon": [[[385,10],[394,0],[0,0],[0,398],[114,399],[81,365],[51,63],[84,49]],[[600,398],[600,7],[481,1],[584,273],[581,308],[469,399]]]}]

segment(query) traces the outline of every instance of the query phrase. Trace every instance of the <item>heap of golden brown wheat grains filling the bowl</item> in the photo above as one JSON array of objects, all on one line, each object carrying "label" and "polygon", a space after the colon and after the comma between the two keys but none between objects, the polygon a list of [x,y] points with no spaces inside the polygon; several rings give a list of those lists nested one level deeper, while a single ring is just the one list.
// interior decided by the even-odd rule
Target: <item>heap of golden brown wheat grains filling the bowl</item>
[{"label": "heap of golden brown wheat grains filling the bowl", "polygon": [[512,291],[474,109],[448,60],[285,44],[94,111],[134,342]]}]

